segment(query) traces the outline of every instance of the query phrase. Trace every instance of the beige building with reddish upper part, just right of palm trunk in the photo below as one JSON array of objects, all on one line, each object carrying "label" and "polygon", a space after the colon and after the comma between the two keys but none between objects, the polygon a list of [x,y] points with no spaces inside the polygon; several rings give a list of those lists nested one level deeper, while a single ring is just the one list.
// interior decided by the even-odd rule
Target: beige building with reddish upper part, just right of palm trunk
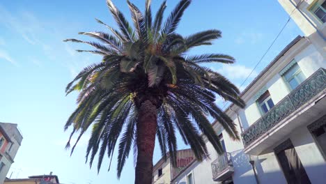
[{"label": "beige building with reddish upper part, just right of palm trunk", "polygon": [[161,158],[153,168],[153,184],[169,184],[189,163],[194,161],[194,153],[191,149],[180,150],[177,152],[177,167],[172,167],[169,153],[167,158]]}]

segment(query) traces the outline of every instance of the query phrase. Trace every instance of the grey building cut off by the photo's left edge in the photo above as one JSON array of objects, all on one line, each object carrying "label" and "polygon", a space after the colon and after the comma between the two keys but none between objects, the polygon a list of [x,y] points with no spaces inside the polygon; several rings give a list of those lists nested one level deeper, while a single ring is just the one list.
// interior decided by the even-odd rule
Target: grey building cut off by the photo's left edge
[{"label": "grey building cut off by the photo's left edge", "polygon": [[22,139],[17,124],[0,123],[0,183],[3,183],[6,178]]}]

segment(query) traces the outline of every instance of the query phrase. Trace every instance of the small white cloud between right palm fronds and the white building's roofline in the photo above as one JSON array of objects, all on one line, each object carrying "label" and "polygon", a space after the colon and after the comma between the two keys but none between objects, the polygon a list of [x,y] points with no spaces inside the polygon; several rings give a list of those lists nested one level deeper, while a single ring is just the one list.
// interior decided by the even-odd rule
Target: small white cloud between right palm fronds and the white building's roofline
[{"label": "small white cloud between right palm fronds and the white building's roofline", "polygon": [[[245,79],[251,73],[252,68],[248,68],[243,65],[222,65],[221,68],[215,69],[220,74],[224,75],[226,78],[235,80],[235,79]],[[251,73],[250,77],[256,76],[256,71]]]}]

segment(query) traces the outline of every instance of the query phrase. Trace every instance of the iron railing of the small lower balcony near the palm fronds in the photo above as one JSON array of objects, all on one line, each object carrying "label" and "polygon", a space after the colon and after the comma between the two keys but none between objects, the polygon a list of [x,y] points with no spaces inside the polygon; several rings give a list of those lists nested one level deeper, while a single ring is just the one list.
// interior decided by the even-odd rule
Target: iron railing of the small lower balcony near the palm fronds
[{"label": "iron railing of the small lower balcony near the palm fronds", "polygon": [[227,169],[228,167],[233,167],[231,153],[224,153],[219,155],[219,157],[214,160],[211,164],[212,166],[212,176],[216,178],[219,174]]}]

